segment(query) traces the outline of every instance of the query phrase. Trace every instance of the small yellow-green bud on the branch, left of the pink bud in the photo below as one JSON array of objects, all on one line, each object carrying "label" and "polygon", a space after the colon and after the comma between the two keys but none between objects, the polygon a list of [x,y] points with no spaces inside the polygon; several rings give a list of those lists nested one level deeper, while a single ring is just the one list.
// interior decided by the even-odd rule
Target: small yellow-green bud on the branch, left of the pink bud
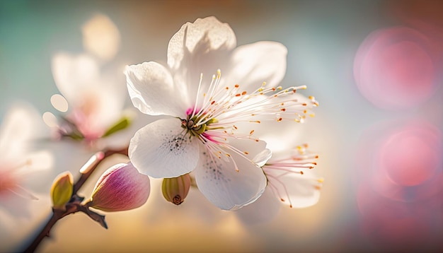
[{"label": "small yellow-green bud on the branch, left of the pink bud", "polygon": [[66,210],[64,205],[71,199],[73,191],[74,180],[72,180],[71,172],[58,175],[51,187],[52,208]]}]

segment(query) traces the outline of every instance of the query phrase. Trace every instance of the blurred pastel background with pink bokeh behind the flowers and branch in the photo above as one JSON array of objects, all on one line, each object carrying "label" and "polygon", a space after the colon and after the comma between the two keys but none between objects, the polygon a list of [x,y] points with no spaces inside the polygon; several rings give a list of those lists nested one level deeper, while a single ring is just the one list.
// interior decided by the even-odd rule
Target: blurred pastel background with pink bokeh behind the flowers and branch
[{"label": "blurred pastel background with pink bokeh behind the flowers and branch", "polygon": [[[59,220],[38,252],[443,250],[443,1],[0,1],[2,124],[17,101],[40,118],[57,114],[50,102],[60,93],[57,54],[91,55],[126,93],[125,65],[166,61],[171,36],[206,16],[229,23],[237,45],[287,47],[282,86],[306,85],[302,94],[320,104],[297,126],[299,143],[320,157],[318,204],[282,206],[275,218],[250,224],[197,191],[173,206],[152,180],[144,206],[105,213],[108,230],[76,213]],[[93,153],[72,143],[42,146],[54,154],[46,185]],[[115,156],[99,170],[126,160]],[[23,247],[49,216],[45,190],[31,218],[0,224],[1,249]]]}]

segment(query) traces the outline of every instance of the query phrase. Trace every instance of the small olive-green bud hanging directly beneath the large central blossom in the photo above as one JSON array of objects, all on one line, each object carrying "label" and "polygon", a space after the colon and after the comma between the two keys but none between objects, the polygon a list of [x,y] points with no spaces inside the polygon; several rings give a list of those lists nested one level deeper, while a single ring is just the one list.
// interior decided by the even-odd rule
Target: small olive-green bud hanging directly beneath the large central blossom
[{"label": "small olive-green bud hanging directly beneath the large central blossom", "polygon": [[161,184],[161,192],[165,199],[173,204],[180,205],[188,196],[191,187],[191,177],[189,174],[180,177],[172,177],[163,179]]}]

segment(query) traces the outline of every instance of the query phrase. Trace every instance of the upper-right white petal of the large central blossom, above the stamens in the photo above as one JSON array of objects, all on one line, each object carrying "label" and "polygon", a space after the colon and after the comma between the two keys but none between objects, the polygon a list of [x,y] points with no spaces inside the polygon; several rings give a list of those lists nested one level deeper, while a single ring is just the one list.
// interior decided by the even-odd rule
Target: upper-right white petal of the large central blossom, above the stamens
[{"label": "upper-right white petal of the large central blossom, above the stamens", "polygon": [[287,49],[278,42],[255,42],[237,47],[232,52],[231,69],[224,71],[228,81],[251,91],[263,82],[279,86],[286,73]]}]

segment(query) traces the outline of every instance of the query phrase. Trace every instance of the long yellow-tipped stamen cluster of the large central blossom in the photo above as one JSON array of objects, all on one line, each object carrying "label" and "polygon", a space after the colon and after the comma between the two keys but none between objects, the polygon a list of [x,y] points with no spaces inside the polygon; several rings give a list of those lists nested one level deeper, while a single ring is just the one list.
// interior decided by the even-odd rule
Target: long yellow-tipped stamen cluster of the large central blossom
[{"label": "long yellow-tipped stamen cluster of the large central blossom", "polygon": [[[219,87],[221,76],[221,71],[218,70],[217,75],[212,76],[207,93],[202,93],[203,76],[200,75],[194,107],[188,110],[186,119],[180,119],[181,127],[186,129],[190,136],[200,139],[217,158],[226,157],[232,160],[231,155],[224,151],[226,149],[243,157],[248,155],[248,151],[239,151],[231,146],[228,138],[259,141],[253,136],[253,129],[238,133],[235,124],[239,122],[260,124],[261,120],[281,122],[283,119],[302,122],[306,117],[308,102],[291,96],[298,89],[306,89],[306,86],[283,89],[281,86],[267,87],[266,83],[263,83],[260,88],[248,94],[246,90],[241,90],[238,84],[234,87]],[[318,105],[313,97],[309,97],[309,101],[311,106]]]}]

